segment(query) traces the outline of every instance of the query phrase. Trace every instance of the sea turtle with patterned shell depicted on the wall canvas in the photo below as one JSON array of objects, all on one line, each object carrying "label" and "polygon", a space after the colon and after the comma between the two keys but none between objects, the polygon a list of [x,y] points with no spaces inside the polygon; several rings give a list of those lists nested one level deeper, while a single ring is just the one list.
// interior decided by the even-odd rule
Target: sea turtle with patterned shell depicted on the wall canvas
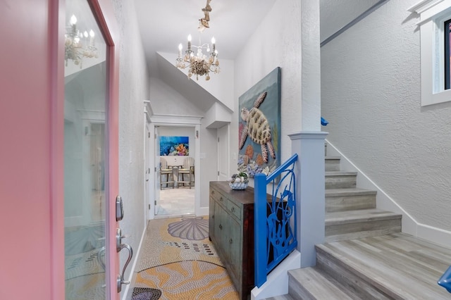
[{"label": "sea turtle with patterned shell depicted on the wall canvas", "polygon": [[241,109],[241,118],[246,122],[245,127],[241,132],[240,149],[245,145],[246,139],[249,136],[253,142],[261,146],[261,156],[265,163],[268,163],[268,151],[272,158],[276,158],[276,151],[274,151],[273,144],[271,144],[271,128],[269,127],[268,119],[259,106],[266,98],[267,92],[263,92],[254,102],[254,107],[248,110],[246,107]]}]

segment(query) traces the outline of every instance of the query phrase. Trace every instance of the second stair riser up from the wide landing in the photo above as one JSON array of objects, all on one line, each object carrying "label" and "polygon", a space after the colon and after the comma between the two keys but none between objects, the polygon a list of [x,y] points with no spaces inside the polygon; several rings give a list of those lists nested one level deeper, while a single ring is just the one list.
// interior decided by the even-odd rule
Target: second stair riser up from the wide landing
[{"label": "second stair riser up from the wide landing", "polygon": [[326,196],[326,212],[376,208],[376,195]]}]

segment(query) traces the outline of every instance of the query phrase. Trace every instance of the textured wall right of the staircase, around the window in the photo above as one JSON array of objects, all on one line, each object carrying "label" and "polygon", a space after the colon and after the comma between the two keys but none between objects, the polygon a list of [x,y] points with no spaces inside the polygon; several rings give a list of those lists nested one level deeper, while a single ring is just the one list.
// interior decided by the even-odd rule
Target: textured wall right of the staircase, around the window
[{"label": "textured wall right of the staircase, around the window", "polygon": [[390,0],[321,49],[328,140],[419,223],[451,230],[451,104],[420,106],[418,0]]}]

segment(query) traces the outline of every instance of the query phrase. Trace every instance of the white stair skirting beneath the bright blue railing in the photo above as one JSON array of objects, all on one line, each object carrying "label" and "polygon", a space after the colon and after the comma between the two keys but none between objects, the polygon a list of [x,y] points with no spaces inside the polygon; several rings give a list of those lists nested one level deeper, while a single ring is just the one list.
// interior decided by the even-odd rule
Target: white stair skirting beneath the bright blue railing
[{"label": "white stair skirting beneath the bright blue railing", "polygon": [[268,274],[264,285],[252,289],[251,300],[288,294],[288,271],[299,268],[301,268],[301,253],[295,250]]}]

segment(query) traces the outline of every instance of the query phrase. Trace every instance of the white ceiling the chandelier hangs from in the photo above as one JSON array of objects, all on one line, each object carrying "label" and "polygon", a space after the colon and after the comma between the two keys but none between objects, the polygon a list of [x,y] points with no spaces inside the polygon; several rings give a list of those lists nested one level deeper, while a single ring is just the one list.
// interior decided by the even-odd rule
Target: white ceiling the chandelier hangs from
[{"label": "white ceiling the chandelier hangs from", "polygon": [[[215,37],[218,57],[233,60],[276,0],[211,0],[210,27],[202,43]],[[156,52],[186,49],[187,36],[198,44],[197,27],[206,0],[135,0],[142,43],[151,76],[158,77]],[[174,62],[175,63],[175,62]]]}]

